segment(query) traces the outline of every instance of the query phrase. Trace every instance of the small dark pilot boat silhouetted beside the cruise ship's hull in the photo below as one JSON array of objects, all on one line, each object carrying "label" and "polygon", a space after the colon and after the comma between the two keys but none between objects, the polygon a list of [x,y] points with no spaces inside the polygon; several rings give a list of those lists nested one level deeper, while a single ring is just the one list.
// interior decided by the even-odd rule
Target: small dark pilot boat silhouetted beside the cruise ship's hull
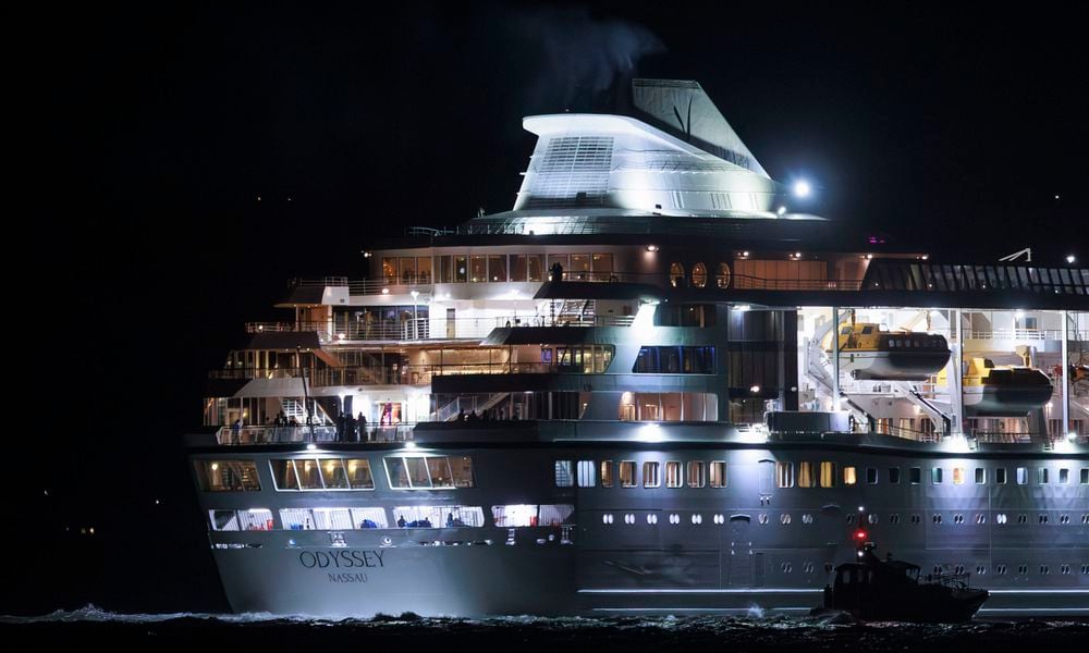
[{"label": "small dark pilot boat silhouetted beside the cruise ship's hull", "polygon": [[856,563],[835,568],[824,588],[824,609],[846,612],[869,621],[952,624],[968,621],[987,601],[987,590],[968,587],[968,574],[920,577],[910,563],[882,560],[867,544]]}]

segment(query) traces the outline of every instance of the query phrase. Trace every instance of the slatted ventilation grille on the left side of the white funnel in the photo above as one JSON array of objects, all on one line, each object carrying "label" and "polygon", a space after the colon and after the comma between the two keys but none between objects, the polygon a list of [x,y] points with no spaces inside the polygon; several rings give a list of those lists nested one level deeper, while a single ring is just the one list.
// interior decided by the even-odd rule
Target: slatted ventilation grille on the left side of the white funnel
[{"label": "slatted ventilation grille on the left side of the white funnel", "polygon": [[528,208],[604,204],[612,169],[613,139],[602,136],[552,138],[530,167]]}]

